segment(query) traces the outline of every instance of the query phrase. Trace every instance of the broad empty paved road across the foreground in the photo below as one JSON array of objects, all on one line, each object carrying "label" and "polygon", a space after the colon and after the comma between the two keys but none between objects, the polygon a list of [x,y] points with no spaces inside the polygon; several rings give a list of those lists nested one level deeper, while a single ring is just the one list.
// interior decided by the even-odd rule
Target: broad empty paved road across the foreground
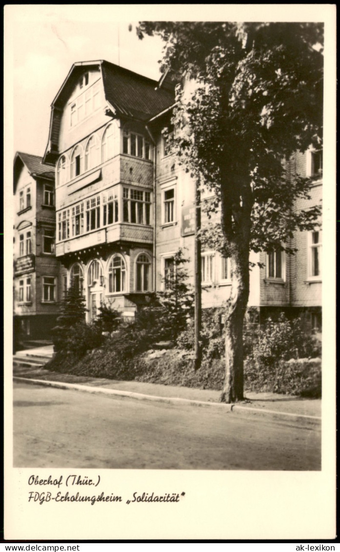
[{"label": "broad empty paved road across the foreground", "polygon": [[214,408],[15,383],[14,466],[320,470],[321,433]]}]

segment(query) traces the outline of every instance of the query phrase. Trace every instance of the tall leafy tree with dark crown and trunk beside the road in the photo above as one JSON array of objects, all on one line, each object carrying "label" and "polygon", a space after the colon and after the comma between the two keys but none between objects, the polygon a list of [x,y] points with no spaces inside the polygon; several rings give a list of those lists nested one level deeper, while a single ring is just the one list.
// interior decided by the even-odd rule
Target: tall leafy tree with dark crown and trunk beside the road
[{"label": "tall leafy tree with dark crown and trunk beside the road", "polygon": [[[141,22],[165,41],[162,70],[177,76],[172,150],[215,192],[220,222],[206,235],[231,261],[222,400],[243,399],[243,319],[249,252],[293,253],[293,232],[311,230],[320,208],[294,209],[309,182],[286,174],[295,151],[321,147],[322,24]],[[180,77],[180,78],[178,78]]]}]

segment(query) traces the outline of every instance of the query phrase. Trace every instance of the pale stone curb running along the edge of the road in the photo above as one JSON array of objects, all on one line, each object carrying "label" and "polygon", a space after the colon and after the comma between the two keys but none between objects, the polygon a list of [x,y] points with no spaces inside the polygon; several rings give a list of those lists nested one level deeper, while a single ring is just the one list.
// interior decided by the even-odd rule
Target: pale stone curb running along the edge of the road
[{"label": "pale stone curb running along the edge of the road", "polygon": [[14,381],[25,381],[32,385],[42,385],[46,387],[53,387],[58,389],[73,389],[75,391],[81,391],[86,393],[92,393],[95,395],[115,395],[120,397],[128,397],[130,399],[144,400],[144,401],[153,401],[153,402],[165,402],[167,404],[174,405],[192,405],[200,407],[214,407],[221,408],[225,412],[232,412],[237,415],[245,415],[246,417],[258,416],[258,417],[267,417],[281,419],[291,422],[304,422],[307,424],[312,424],[314,426],[321,426],[321,417],[318,416],[306,416],[304,414],[293,414],[290,412],[279,412],[277,410],[259,410],[258,408],[251,408],[249,406],[241,406],[235,404],[224,404],[221,402],[207,402],[207,401],[196,401],[192,399],[180,399],[179,397],[161,397],[156,395],[145,395],[142,393],[136,393],[134,391],[119,391],[118,389],[104,389],[98,387],[92,387],[89,385],[81,385],[74,383],[62,383],[60,381],[49,381],[49,380],[37,380],[31,378],[20,378],[20,376],[13,376]]}]

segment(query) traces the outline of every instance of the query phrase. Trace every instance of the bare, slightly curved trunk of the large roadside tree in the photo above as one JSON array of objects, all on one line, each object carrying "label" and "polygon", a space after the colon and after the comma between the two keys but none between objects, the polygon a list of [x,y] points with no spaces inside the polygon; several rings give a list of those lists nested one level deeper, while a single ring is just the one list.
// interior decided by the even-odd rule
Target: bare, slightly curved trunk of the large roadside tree
[{"label": "bare, slightly curved trunk of the large roadside tree", "polygon": [[249,248],[238,243],[231,255],[231,294],[225,318],[225,384],[222,402],[243,400],[243,321],[249,298]]}]

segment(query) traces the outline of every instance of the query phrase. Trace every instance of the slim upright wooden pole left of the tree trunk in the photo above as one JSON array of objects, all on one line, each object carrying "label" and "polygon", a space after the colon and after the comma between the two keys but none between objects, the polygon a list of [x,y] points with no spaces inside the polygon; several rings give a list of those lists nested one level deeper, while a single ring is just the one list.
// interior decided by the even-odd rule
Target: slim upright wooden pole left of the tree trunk
[{"label": "slim upright wooden pole left of the tree trunk", "polygon": [[201,193],[196,183],[195,201],[195,370],[201,365],[200,336],[202,327],[202,299],[201,299]]}]

